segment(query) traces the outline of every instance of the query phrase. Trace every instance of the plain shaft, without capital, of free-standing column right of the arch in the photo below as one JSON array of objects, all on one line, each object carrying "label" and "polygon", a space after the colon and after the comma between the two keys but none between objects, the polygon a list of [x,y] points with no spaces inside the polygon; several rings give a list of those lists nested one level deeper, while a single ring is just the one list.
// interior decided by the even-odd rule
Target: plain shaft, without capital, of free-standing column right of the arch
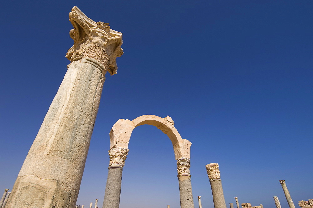
[{"label": "plain shaft, without capital, of free-standing column right of the arch", "polygon": [[222,188],[222,180],[211,179],[210,184],[212,189],[214,208],[226,208],[226,202]]}]

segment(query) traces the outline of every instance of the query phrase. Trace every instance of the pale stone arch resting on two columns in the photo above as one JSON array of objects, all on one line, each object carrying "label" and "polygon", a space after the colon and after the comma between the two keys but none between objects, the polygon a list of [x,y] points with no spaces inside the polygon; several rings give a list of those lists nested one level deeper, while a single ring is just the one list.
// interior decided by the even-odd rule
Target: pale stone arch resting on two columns
[{"label": "pale stone arch resting on two columns", "polygon": [[175,160],[181,157],[190,159],[191,142],[182,139],[174,127],[174,121],[169,116],[161,118],[155,115],[142,115],[132,121],[128,119],[119,119],[113,125],[109,134],[110,150],[112,148],[128,148],[129,139],[133,129],[141,125],[156,126],[168,136],[174,148]]}]

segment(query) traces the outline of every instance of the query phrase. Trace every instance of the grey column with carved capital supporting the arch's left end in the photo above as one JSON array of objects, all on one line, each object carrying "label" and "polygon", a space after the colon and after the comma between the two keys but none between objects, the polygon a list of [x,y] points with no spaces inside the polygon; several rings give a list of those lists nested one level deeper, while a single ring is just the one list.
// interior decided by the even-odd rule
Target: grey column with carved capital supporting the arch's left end
[{"label": "grey column with carved capital supporting the arch's left end", "polygon": [[119,208],[122,185],[122,171],[128,148],[111,148],[108,179],[106,181],[103,208]]}]

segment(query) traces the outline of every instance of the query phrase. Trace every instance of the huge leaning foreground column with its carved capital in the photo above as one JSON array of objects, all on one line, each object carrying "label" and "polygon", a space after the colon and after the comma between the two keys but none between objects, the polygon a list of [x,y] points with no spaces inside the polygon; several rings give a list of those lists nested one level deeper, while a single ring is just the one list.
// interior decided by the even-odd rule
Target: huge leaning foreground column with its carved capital
[{"label": "huge leaning foreground column with its carved capital", "polygon": [[[72,208],[85,167],[105,73],[116,74],[122,33],[77,7],[69,20],[74,45],[68,70],[13,186],[7,208]],[[49,60],[50,62],[53,60]],[[49,64],[49,62],[47,62]]]}]

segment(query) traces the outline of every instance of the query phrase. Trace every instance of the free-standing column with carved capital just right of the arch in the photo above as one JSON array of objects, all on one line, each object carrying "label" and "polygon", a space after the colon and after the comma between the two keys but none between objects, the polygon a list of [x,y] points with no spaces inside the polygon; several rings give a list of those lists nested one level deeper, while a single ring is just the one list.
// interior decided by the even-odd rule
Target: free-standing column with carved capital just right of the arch
[{"label": "free-standing column with carved capital just right of the arch", "polygon": [[205,165],[210,179],[214,208],[226,208],[218,163]]}]

